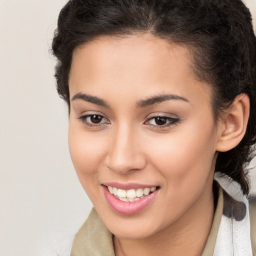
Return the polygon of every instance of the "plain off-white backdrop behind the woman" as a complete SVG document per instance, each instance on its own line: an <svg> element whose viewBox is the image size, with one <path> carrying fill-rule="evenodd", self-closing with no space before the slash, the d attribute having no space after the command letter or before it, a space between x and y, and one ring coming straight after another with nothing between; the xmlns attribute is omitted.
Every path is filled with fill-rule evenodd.
<svg viewBox="0 0 256 256"><path fill-rule="evenodd" d="M0 256L56 255L52 244L92 207L69 157L48 52L65 2L0 0ZM256 16L256 0L246 2Z"/></svg>

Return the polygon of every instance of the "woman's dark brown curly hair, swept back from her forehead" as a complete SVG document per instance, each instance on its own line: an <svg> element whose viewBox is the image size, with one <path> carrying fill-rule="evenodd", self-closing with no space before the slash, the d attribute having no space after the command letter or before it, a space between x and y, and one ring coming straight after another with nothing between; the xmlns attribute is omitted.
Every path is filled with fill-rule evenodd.
<svg viewBox="0 0 256 256"><path fill-rule="evenodd" d="M69 0L52 41L60 97L70 107L68 77L75 47L100 35L145 32L191 49L196 76L212 86L215 120L235 96L248 95L246 133L236 147L218 153L215 166L248 194L247 167L256 142L256 39L241 0Z"/></svg>

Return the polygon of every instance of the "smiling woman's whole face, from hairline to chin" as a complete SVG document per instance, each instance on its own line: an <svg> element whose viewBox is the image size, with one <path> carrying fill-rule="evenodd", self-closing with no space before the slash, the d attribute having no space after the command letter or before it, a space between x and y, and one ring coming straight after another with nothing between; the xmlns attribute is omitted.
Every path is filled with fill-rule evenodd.
<svg viewBox="0 0 256 256"><path fill-rule="evenodd" d="M190 59L150 34L102 36L73 53L69 150L118 237L187 224L212 201L218 129L210 85L195 78Z"/></svg>

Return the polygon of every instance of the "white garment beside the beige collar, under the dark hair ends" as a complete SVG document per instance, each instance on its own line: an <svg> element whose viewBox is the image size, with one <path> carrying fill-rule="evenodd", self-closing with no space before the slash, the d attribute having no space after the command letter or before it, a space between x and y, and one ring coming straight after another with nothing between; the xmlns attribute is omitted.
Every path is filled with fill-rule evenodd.
<svg viewBox="0 0 256 256"><path fill-rule="evenodd" d="M213 256L252 256L248 200L236 182L231 182L226 176L221 177L219 173L216 173L214 178L230 197L224 196L223 214ZM229 206L241 205L238 206L240 209L234 209L232 206L225 209L227 200L237 201L238 203L231 202Z"/></svg>

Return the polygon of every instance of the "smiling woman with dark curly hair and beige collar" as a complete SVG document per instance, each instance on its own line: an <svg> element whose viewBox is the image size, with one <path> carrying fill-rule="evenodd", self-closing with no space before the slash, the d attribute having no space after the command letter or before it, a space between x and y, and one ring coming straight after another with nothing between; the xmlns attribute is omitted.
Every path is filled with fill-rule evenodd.
<svg viewBox="0 0 256 256"><path fill-rule="evenodd" d="M256 40L243 3L70 0L52 50L94 206L71 255L254 255Z"/></svg>

